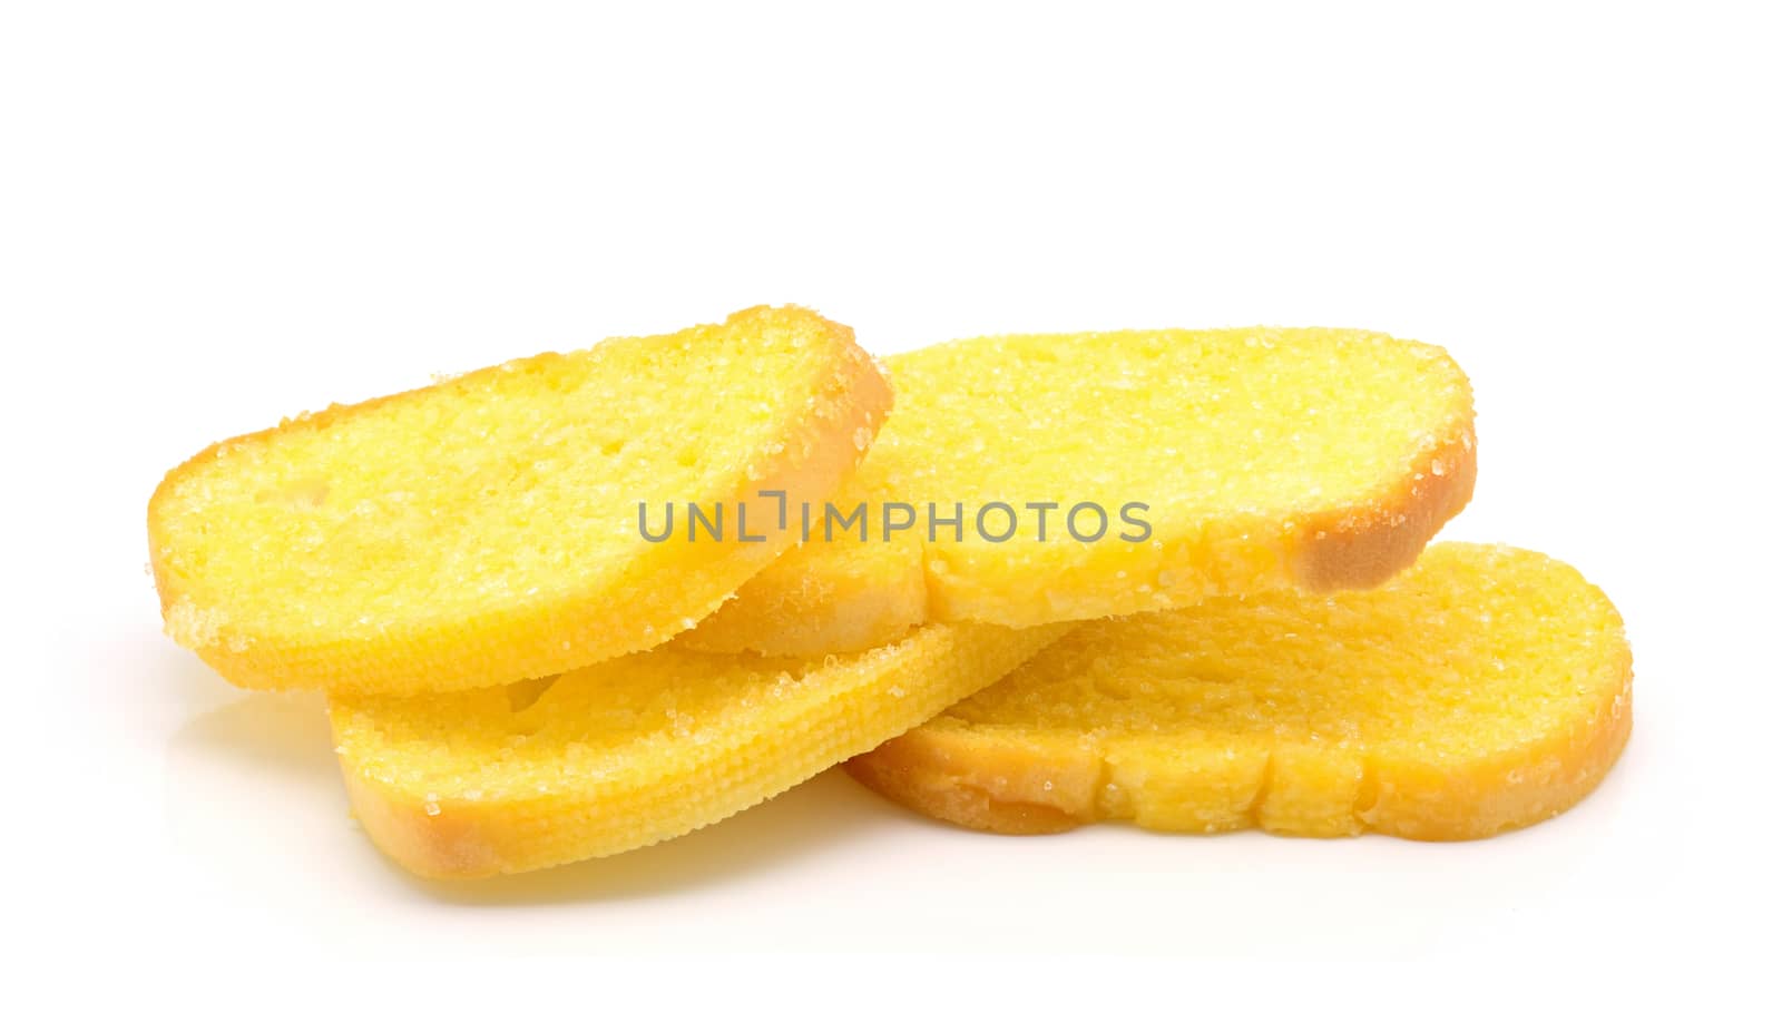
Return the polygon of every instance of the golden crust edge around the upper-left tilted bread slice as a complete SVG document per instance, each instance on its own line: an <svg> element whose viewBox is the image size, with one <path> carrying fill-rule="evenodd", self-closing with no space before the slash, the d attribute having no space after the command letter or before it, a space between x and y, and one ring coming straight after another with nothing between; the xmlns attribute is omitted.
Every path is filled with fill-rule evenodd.
<svg viewBox="0 0 1782 1033"><path fill-rule="evenodd" d="M752 338L793 337L822 349L822 360L813 363L807 383L788 383L782 388L788 422L752 442L747 458L732 468L716 474L715 497L640 500L723 502L734 508L736 502L756 502L761 492L786 492L791 504L832 495L859 465L891 406L889 383L871 356L854 344L852 329L795 306L761 306L731 315L722 328L693 328L663 340L672 344L693 333L716 333L734 342L723 347L743 353L745 342ZM597 346L595 351L609 344L615 342ZM636 536L634 552L617 579L540 597L524 595L517 586L511 597L481 611L339 638L317 638L301 627L255 623L251 616L239 613L237 600L217 597L216 590L184 577L169 559L176 554L176 534L166 515L173 509L175 493L230 452L278 442L292 429L328 431L374 419L387 406L412 403L451 383L476 383L517 367L574 358L544 354L465 374L447 385L331 406L267 431L221 442L176 467L148 506L150 557L168 634L241 687L410 695L495 686L647 650L715 611L740 584L793 545L791 529L777 529L772 522L752 527L752 533L759 531L766 538L761 543L740 541L736 534L723 541L649 543L631 531ZM800 397L804 404L793 404ZM392 458L415 460L419 458Z"/></svg>

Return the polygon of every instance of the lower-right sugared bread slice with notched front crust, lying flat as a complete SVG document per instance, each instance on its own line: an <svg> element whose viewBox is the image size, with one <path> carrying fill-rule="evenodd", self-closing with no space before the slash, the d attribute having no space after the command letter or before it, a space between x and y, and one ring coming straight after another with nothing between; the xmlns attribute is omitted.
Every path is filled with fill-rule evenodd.
<svg viewBox="0 0 1782 1033"><path fill-rule="evenodd" d="M1082 625L848 771L991 832L1475 839L1582 800L1631 693L1600 590L1536 552L1443 543L1370 591Z"/></svg>

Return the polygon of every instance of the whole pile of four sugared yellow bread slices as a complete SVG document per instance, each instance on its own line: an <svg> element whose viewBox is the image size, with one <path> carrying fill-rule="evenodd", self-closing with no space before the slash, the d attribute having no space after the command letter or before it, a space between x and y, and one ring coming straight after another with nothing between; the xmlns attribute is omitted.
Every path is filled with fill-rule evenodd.
<svg viewBox="0 0 1782 1033"><path fill-rule="evenodd" d="M221 442L148 531L168 634L324 691L355 816L422 876L645 848L836 764L994 832L1470 839L1584 798L1632 682L1565 563L1426 550L1474 472L1427 344L879 363L788 306Z"/></svg>

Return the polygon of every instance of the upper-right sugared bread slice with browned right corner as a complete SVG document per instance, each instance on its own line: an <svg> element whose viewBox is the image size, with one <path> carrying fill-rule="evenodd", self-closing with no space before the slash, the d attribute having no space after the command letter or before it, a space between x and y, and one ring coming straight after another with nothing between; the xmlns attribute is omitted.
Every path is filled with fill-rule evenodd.
<svg viewBox="0 0 1782 1033"><path fill-rule="evenodd" d="M887 360L898 411L848 502L909 502L918 527L789 552L684 638L820 654L921 622L1026 627L1210 595L1369 588L1472 497L1467 376L1438 347L1360 329L985 337ZM927 504L955 515L962 540ZM1007 516L977 515L1009 504ZM1080 541L1073 506L1108 516ZM1121 520L1128 502L1149 534ZM1030 508L1030 504L1034 508ZM1039 506L1050 511L1037 541ZM1078 531L1098 529L1083 509Z"/></svg>

